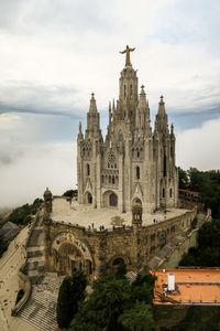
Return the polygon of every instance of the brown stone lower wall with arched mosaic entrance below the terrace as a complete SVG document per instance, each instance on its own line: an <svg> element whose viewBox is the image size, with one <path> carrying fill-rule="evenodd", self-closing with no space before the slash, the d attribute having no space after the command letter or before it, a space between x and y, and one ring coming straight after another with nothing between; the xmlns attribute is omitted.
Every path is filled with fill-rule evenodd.
<svg viewBox="0 0 220 331"><path fill-rule="evenodd" d="M45 271L62 273L65 266L65 270L68 269L70 273L70 263L65 259L63 252L67 252L73 260L73 255L76 254L76 260L87 274L91 269L89 280L110 273L117 267L119 259L124 260L128 270L138 271L160 252L162 246L190 227L195 216L196 210L150 226L133 224L129 228L116 227L102 232L44 220ZM66 250L63 249L65 245ZM76 249L70 249L72 246ZM59 259L63 258L64 263L61 263Z"/></svg>

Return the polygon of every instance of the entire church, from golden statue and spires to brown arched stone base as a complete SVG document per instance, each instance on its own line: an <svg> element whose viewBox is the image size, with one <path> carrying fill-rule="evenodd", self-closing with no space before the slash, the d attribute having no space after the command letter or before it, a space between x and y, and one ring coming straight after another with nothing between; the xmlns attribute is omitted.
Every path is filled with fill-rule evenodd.
<svg viewBox="0 0 220 331"><path fill-rule="evenodd" d="M70 275L80 268L90 282L122 261L136 271L195 218L196 210L177 209L174 127L161 97L152 130L144 86L139 94L130 60L133 51L121 52L125 66L119 99L109 104L106 139L94 94L85 134L79 124L78 199L44 193L45 271Z"/></svg>

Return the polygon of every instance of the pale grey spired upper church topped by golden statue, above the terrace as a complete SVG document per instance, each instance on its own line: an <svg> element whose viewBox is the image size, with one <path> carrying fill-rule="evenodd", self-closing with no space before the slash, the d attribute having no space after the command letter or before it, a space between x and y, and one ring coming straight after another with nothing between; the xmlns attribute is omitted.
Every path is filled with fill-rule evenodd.
<svg viewBox="0 0 220 331"><path fill-rule="evenodd" d="M175 135L163 96L152 131L148 100L127 53L119 79L119 99L109 103L109 125L102 138L94 93L87 113L85 137L79 124L77 181L80 204L112 207L121 212L140 203L143 212L176 207L178 172L175 163ZM128 55L129 54L129 55ZM129 58L128 58L129 56Z"/></svg>

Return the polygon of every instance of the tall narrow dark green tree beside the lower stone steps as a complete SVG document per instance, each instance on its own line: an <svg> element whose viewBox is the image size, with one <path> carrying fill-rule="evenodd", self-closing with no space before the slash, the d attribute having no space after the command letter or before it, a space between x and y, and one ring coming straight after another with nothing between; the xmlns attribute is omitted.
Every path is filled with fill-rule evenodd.
<svg viewBox="0 0 220 331"><path fill-rule="evenodd" d="M87 280L81 270L66 276L59 288L57 300L57 322L59 328L67 328L78 311L78 305L85 299Z"/></svg>

